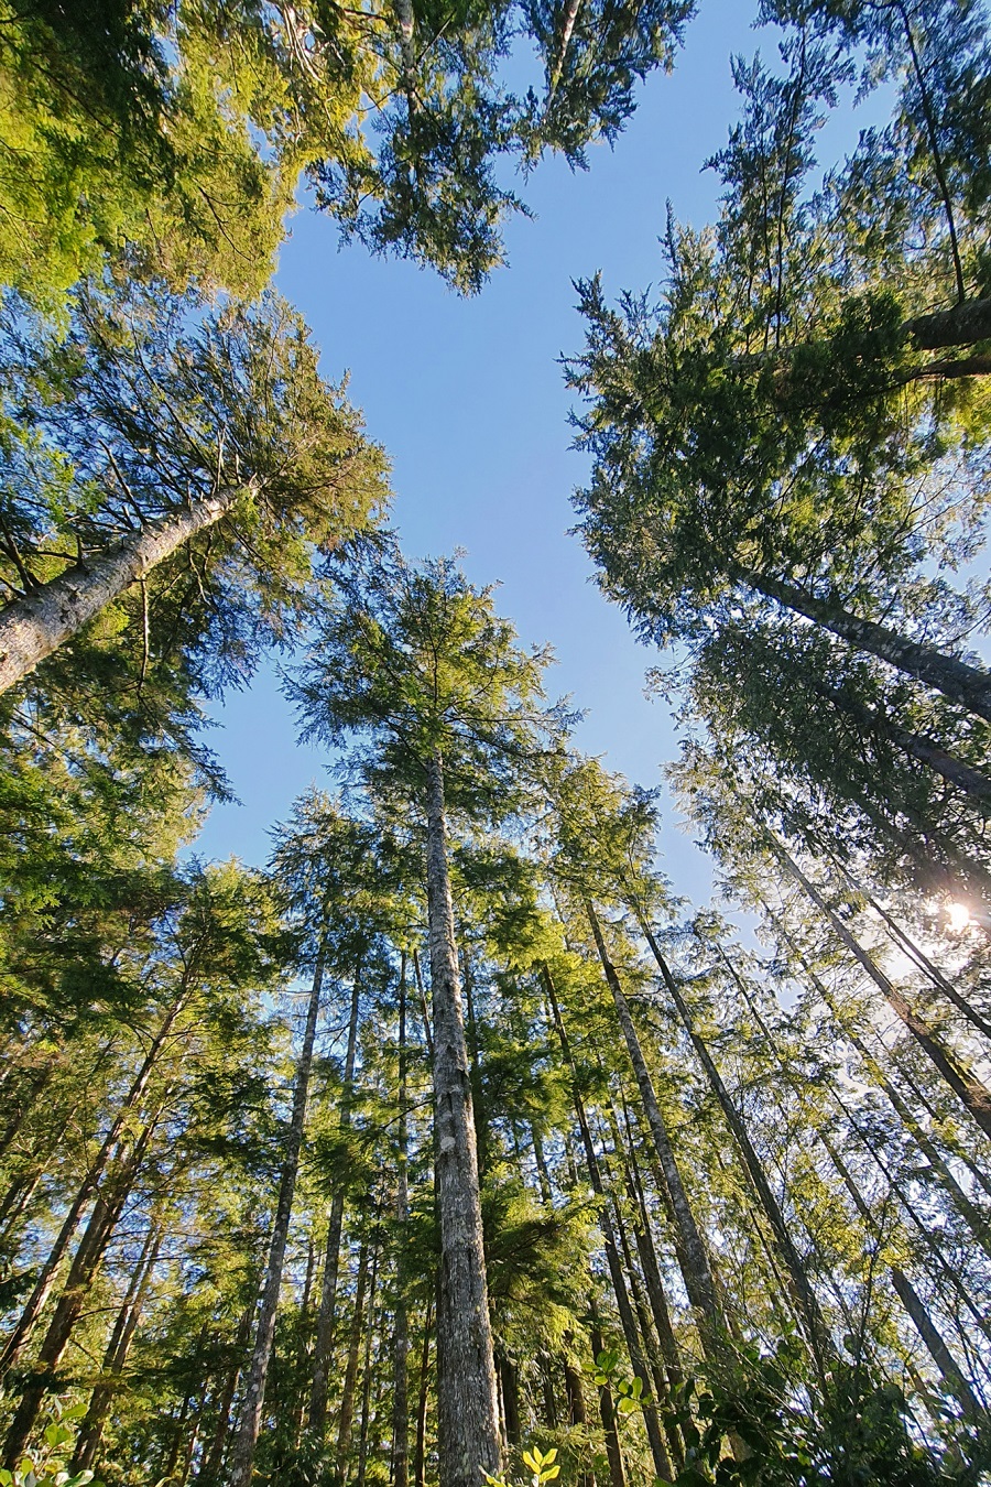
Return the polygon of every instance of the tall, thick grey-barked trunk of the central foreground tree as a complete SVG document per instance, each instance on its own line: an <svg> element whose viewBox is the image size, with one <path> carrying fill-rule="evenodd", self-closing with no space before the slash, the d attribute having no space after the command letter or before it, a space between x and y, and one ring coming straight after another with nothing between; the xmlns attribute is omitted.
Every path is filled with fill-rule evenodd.
<svg viewBox="0 0 991 1487"><path fill-rule="evenodd" d="M440 1216L437 1413L444 1487L499 1475L496 1395L471 1078L447 868L440 751L426 767L426 901L434 999L434 1160Z"/></svg>

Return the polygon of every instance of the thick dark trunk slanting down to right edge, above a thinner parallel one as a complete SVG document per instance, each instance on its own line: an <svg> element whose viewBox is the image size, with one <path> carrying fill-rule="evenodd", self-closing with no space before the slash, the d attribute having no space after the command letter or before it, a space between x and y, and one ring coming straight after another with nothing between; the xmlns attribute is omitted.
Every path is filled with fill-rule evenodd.
<svg viewBox="0 0 991 1487"><path fill-rule="evenodd" d="M737 577L747 587L848 641L856 650L877 656L896 671L940 691L967 712L991 721L991 674L979 666L969 666L955 656L946 656L921 641L908 639L897 630L878 625L877 620L862 620L836 601L819 599L783 578L773 578L752 568L740 568Z"/></svg>

